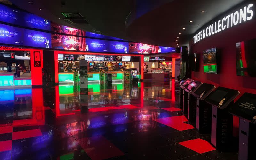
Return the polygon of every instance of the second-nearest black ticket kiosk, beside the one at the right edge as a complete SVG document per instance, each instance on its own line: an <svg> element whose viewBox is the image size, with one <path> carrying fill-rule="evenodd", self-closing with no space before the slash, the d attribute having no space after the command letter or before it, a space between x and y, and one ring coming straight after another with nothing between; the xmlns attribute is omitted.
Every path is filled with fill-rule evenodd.
<svg viewBox="0 0 256 160"><path fill-rule="evenodd" d="M234 104L239 91L218 87L205 101L212 105L211 143L220 150L228 150L233 143L233 115L228 108Z"/></svg>

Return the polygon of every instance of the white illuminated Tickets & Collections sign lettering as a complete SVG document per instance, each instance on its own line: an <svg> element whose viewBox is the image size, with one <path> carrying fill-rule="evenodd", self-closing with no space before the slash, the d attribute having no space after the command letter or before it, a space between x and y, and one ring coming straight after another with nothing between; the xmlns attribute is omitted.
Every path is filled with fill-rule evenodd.
<svg viewBox="0 0 256 160"><path fill-rule="evenodd" d="M213 34L221 32L225 29L252 20L252 17L254 15L254 7L255 5L252 3L245 5L244 7L235 10L235 12L232 12L227 16L224 16L223 18L219 19L218 21L213 22L193 37L194 44L206 37L212 36Z"/></svg>

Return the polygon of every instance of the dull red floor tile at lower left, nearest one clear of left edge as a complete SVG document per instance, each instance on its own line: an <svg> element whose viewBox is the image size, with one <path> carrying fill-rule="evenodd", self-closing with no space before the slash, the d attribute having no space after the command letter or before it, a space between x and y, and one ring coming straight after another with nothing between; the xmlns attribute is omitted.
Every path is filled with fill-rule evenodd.
<svg viewBox="0 0 256 160"><path fill-rule="evenodd" d="M42 132L40 129L26 130L26 131L18 131L12 133L12 140L30 138L42 136Z"/></svg>

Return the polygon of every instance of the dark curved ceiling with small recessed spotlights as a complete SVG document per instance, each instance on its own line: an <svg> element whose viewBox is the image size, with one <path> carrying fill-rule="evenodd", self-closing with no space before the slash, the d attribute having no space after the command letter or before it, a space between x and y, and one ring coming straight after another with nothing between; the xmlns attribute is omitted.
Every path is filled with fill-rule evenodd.
<svg viewBox="0 0 256 160"><path fill-rule="evenodd" d="M10 1L58 24L129 41L177 47L176 42L179 46L188 45L196 30L243 0ZM203 10L206 12L201 13ZM79 12L89 24L71 25L63 20L61 12Z"/></svg>

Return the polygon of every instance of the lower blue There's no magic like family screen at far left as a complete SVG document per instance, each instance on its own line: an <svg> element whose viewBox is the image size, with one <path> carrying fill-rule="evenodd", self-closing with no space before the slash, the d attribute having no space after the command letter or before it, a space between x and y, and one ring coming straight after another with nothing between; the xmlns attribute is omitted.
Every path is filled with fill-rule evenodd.
<svg viewBox="0 0 256 160"><path fill-rule="evenodd" d="M0 43L51 48L51 33L0 24Z"/></svg>

